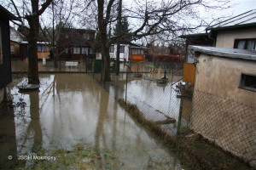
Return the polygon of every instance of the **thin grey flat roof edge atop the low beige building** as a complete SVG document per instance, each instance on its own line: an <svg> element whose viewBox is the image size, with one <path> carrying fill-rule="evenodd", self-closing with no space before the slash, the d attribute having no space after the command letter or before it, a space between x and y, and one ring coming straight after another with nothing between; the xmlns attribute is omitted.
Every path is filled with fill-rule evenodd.
<svg viewBox="0 0 256 170"><path fill-rule="evenodd" d="M256 61L256 51L247 49L189 46L189 50L199 52L201 54L210 54L225 58L247 59Z"/></svg>

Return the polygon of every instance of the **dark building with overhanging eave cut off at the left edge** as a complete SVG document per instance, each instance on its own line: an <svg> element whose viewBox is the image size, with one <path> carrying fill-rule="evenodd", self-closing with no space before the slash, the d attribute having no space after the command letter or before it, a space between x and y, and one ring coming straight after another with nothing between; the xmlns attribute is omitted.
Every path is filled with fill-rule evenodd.
<svg viewBox="0 0 256 170"><path fill-rule="evenodd" d="M9 20L18 20L0 5L0 102L6 97L6 87L12 81Z"/></svg>

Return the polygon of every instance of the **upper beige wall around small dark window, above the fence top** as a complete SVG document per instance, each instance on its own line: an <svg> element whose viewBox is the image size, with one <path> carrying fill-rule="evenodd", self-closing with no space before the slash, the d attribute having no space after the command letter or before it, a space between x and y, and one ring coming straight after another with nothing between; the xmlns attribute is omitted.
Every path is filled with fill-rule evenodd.
<svg viewBox="0 0 256 170"><path fill-rule="evenodd" d="M201 54L195 89L255 107L256 93L238 88L241 73L256 75L256 62Z"/></svg>

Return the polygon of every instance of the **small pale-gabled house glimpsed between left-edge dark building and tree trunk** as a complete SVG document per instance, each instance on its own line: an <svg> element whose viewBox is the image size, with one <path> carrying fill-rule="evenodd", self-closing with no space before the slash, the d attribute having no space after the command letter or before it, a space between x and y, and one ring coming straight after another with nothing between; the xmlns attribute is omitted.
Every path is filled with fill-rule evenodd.
<svg viewBox="0 0 256 170"><path fill-rule="evenodd" d="M11 58L20 58L20 42L23 41L24 36L14 27L10 26L9 28Z"/></svg>

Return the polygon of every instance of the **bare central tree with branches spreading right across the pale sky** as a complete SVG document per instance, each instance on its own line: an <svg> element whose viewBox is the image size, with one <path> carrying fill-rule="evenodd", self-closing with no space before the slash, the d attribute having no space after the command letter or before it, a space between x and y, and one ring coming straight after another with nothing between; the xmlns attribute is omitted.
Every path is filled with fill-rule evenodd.
<svg viewBox="0 0 256 170"><path fill-rule="evenodd" d="M226 0L212 0L211 2L202 0L133 1L122 10L122 17L128 18L133 23L131 26L133 30L130 33L133 40L164 32L177 35L177 32L196 29L205 24L199 17L197 8L224 8L226 3L228 3ZM108 37L108 26L119 19L117 13L112 13L113 8L116 9L116 7L115 0L97 0L97 23L102 40L102 57L105 68L103 80L107 82L111 81L109 46L127 36L123 34ZM196 24L191 23L190 20L196 20Z"/></svg>

